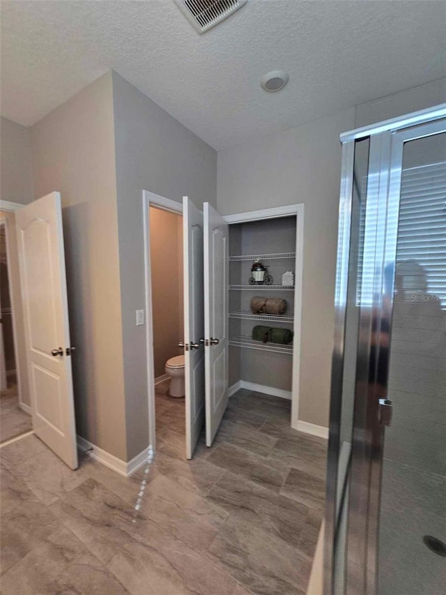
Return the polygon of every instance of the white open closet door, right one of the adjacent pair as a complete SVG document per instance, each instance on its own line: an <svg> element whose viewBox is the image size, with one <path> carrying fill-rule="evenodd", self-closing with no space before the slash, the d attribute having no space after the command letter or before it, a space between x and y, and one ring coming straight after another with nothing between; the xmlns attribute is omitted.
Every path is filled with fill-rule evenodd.
<svg viewBox="0 0 446 595"><path fill-rule="evenodd" d="M206 445L212 446L228 406L229 225L208 202L203 214Z"/></svg>

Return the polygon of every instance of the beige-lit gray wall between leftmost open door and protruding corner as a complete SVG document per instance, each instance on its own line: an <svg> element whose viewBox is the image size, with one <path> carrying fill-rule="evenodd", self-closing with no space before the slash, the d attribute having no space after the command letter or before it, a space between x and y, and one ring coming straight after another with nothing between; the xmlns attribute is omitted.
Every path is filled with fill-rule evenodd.
<svg viewBox="0 0 446 595"><path fill-rule="evenodd" d="M127 460L112 73L31 130L34 193L61 192L77 432Z"/></svg>

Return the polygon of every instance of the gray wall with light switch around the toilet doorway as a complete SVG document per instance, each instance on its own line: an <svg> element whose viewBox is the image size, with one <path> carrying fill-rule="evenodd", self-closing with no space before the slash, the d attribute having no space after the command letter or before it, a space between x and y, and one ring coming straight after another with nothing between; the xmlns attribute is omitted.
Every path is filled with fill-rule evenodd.
<svg viewBox="0 0 446 595"><path fill-rule="evenodd" d="M217 153L113 73L119 258L128 457L148 444L146 342L134 311L144 308L142 190L201 207L216 204Z"/></svg>

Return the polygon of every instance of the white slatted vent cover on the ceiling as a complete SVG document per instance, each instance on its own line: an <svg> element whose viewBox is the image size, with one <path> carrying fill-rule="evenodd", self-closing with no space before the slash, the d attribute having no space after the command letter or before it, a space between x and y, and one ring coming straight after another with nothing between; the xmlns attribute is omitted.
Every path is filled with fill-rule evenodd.
<svg viewBox="0 0 446 595"><path fill-rule="evenodd" d="M205 33L235 13L248 0L174 0L199 33Z"/></svg>

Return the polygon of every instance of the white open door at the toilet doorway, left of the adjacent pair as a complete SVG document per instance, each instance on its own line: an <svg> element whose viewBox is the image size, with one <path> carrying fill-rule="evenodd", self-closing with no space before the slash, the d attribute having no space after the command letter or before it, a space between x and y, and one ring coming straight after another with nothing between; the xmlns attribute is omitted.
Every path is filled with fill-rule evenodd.
<svg viewBox="0 0 446 595"><path fill-rule="evenodd" d="M183 197L186 456L204 422L203 213Z"/></svg>

